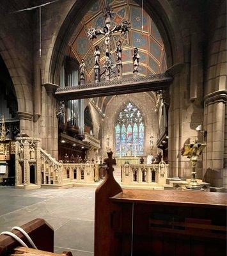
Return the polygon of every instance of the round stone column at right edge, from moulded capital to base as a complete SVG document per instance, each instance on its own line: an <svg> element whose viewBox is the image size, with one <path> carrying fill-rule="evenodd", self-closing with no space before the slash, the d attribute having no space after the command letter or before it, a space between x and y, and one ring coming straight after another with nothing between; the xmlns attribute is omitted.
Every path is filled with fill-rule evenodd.
<svg viewBox="0 0 227 256"><path fill-rule="evenodd" d="M207 131L207 148L203 153L203 176L211 186L223 187L224 141L227 90L212 92L204 98L204 129ZM224 181L225 183L225 181Z"/></svg>

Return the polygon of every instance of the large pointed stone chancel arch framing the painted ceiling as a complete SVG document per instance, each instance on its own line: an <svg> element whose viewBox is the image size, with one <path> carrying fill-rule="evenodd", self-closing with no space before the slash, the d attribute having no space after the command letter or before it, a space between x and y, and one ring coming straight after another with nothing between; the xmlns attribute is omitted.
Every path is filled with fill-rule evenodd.
<svg viewBox="0 0 227 256"><path fill-rule="evenodd" d="M136 0L137 1L137 0ZM84 16L87 10L89 10L92 3L95 0L88 0L88 3L84 5L84 1L77 0L72 6L70 12L68 12L61 28L54 37L54 47L51 54L51 58L47 59L47 70L45 71L44 81L58 84L58 74L61 68L60 63L63 60L63 52L67 47L67 42L72 36L75 27L79 24L80 20ZM141 1L137 1L141 5ZM154 20L160 35L164 42L166 49L166 61L168 68L176 63L184 62L184 48L182 45L182 36L180 34L179 22L174 15L173 8L167 0L147 0L144 6L146 12ZM73 24L73 26L72 26Z"/></svg>

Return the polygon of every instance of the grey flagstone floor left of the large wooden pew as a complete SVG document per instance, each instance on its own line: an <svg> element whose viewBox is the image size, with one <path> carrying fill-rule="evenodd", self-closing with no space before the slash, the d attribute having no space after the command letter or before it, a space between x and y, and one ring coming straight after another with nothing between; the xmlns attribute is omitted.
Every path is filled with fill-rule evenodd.
<svg viewBox="0 0 227 256"><path fill-rule="evenodd" d="M0 232L35 218L54 228L54 251L93 255L95 188L23 190L0 186Z"/></svg>

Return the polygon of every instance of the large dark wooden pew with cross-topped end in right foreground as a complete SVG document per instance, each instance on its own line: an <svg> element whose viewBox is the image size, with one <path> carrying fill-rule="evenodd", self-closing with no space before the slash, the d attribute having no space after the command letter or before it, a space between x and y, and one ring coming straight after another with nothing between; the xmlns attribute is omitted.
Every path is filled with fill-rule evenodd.
<svg viewBox="0 0 227 256"><path fill-rule="evenodd" d="M122 191L111 157L95 193L95 256L226 255L226 193Z"/></svg>

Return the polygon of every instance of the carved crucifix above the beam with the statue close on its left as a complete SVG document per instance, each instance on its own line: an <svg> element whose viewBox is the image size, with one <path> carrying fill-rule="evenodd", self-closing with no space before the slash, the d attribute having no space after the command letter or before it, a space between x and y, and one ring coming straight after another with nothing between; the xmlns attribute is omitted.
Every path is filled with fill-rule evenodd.
<svg viewBox="0 0 227 256"><path fill-rule="evenodd" d="M127 33L129 31L129 22L127 20L123 20L120 25L116 25L114 27L111 27L111 18L113 17L113 8L110 6L106 6L104 10L104 17L105 17L105 26L103 29L95 29L95 28L90 28L88 30L88 37L90 39L97 38L97 35L105 35L105 47L106 47L106 60L104 61L104 74L105 80L109 81L111 78L111 70L113 64L111 63L110 59L110 38L111 35L115 32L121 32L121 33ZM99 50L98 45L95 47L95 66L94 66L94 71L95 71L95 82L100 82L100 77L102 74L100 74L100 64L99 64L99 56L98 56L98 61L97 61L97 50ZM119 60L118 60L119 61ZM118 68L121 68L120 65L118 65ZM118 74L121 74L120 71L118 71Z"/></svg>

